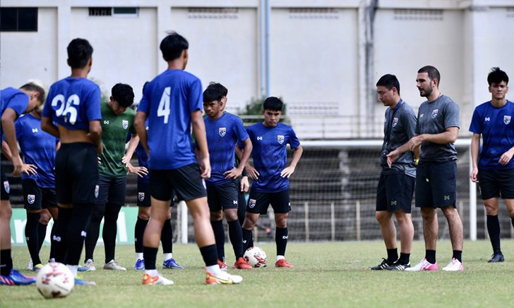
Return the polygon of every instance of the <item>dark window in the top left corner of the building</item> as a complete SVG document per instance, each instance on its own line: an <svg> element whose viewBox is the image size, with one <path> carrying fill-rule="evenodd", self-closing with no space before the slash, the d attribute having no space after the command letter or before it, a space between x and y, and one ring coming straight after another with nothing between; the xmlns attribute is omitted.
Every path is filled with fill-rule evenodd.
<svg viewBox="0 0 514 308"><path fill-rule="evenodd" d="M37 8L0 8L0 31L37 32Z"/></svg>

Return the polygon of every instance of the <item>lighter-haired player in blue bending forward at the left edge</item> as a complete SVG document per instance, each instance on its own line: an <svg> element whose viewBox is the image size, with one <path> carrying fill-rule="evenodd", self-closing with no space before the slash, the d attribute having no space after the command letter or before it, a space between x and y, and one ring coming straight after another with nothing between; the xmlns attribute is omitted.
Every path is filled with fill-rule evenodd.
<svg viewBox="0 0 514 308"><path fill-rule="evenodd" d="M37 106L40 97L44 97L44 90L37 85L27 84L16 90L8 87L0 91L0 135L5 135L8 149L13 162L13 175L25 172L23 161L18 151L16 140L16 119L23 113L32 111ZM0 285L28 285L35 282L35 278L25 277L13 269L11 257L11 202L9 202L9 182L4 168L0 166Z"/></svg>

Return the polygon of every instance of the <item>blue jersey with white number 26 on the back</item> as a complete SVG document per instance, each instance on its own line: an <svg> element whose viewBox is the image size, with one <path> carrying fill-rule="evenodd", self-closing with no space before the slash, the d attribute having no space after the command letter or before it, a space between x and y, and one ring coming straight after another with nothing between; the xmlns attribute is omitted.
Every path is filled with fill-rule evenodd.
<svg viewBox="0 0 514 308"><path fill-rule="evenodd" d="M100 87L86 78L64 78L48 92L43 116L68 130L89 131L89 122L102 119Z"/></svg>

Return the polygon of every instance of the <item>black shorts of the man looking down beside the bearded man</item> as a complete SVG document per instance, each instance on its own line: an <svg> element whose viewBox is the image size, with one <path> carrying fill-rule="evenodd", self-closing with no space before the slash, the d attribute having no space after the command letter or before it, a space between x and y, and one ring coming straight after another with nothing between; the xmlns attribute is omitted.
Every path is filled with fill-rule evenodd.
<svg viewBox="0 0 514 308"><path fill-rule="evenodd" d="M405 174L381 174L376 190L376 211L412 211L416 179Z"/></svg>

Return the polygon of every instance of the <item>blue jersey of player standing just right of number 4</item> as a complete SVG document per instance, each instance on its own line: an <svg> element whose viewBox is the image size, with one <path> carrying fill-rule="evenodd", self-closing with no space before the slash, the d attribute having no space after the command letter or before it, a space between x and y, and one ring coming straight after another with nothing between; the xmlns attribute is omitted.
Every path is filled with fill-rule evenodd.
<svg viewBox="0 0 514 308"><path fill-rule="evenodd" d="M235 164L234 147L236 143L248 139L243 122L237 116L223 113L215 121L208 117L205 120L205 132L210 157L210 178L205 179L206 185L221 185L232 179L225 179L223 173L232 170Z"/></svg>

